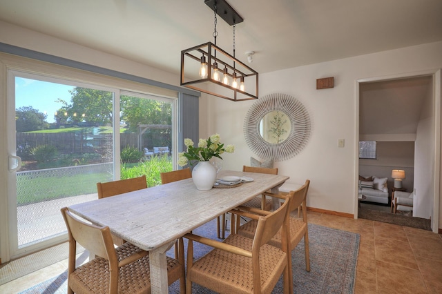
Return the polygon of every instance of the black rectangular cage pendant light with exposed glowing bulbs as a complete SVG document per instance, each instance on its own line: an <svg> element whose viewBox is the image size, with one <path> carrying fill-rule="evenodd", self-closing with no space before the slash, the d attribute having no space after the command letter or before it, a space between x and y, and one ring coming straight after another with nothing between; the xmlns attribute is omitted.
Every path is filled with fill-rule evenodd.
<svg viewBox="0 0 442 294"><path fill-rule="evenodd" d="M181 86L231 101L258 99L258 72L235 57L236 24L243 21L242 17L225 0L204 3L214 12L214 43L181 51ZM233 55L216 45L217 16L233 26Z"/></svg>

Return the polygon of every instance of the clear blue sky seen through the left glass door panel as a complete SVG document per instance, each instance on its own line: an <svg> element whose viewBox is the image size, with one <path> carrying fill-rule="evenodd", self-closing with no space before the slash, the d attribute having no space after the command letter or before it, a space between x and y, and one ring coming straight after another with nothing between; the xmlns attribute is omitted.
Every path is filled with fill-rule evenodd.
<svg viewBox="0 0 442 294"><path fill-rule="evenodd" d="M70 93L73 86L37 81L35 79L15 78L15 109L32 106L39 112L46 113L48 123L55 122L55 112L63 106L57 103L60 98L70 104Z"/></svg>

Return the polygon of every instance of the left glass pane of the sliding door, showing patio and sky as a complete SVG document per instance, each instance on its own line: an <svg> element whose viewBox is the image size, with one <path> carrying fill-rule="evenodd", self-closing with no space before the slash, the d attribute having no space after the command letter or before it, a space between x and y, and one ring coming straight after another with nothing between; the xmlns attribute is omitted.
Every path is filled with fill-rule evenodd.
<svg viewBox="0 0 442 294"><path fill-rule="evenodd" d="M113 180L113 92L62 82L15 79L18 248L66 234L59 209Z"/></svg>

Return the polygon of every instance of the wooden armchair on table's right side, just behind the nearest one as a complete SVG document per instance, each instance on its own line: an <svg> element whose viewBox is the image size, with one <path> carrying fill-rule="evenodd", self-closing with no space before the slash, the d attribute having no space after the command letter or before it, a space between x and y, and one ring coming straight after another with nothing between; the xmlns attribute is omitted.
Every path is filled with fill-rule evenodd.
<svg viewBox="0 0 442 294"><path fill-rule="evenodd" d="M307 192L309 190L310 180L307 179L305 184L302 185L298 190L289 192L289 217L286 219L286 225L288 226L288 234L287 234L287 244L289 244L289 251L294 250L298 243L301 241L302 237L304 237L304 248L305 248L305 269L306 271L310 271L310 255L309 255L309 233L307 228L307 209L302 209L302 219L298 219L295 217L291 217L290 213L297 209L300 204L304 208L307 208ZM287 197L287 195L273 195L273 197L278 197L283 199ZM238 210L244 210L253 213L262 213L262 210L256 210L256 208L249 208L246 206L239 206ZM258 226L258 222L256 219L252 219L250 222L243 224L240 226L238 230L238 234L253 238L256 232L256 228ZM269 244L273 246L281 246L285 242L282 242L282 231L279 231L273 238L270 239ZM289 255L289 271L291 273L291 255ZM292 289L291 289L292 290Z"/></svg>

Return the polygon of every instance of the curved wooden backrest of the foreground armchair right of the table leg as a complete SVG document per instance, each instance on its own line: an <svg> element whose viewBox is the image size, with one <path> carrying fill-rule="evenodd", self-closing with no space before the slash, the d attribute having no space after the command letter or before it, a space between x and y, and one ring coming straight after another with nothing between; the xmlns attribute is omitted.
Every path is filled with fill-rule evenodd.
<svg viewBox="0 0 442 294"><path fill-rule="evenodd" d="M289 215L287 209L289 208L289 196L285 198L285 202L278 208L266 216L260 216L258 219L258 225L256 226L256 233L253 239L252 252L259 253L259 248L262 244L269 242L276 233L282 228L282 235L287 235L287 227L282 226L284 224L285 218ZM287 237L285 238L287 240ZM282 250L286 251L286 245L282 244ZM286 251L287 252L287 251ZM258 256L258 255L257 255Z"/></svg>

